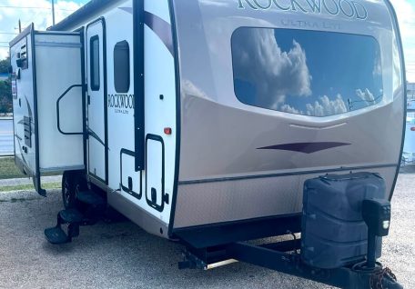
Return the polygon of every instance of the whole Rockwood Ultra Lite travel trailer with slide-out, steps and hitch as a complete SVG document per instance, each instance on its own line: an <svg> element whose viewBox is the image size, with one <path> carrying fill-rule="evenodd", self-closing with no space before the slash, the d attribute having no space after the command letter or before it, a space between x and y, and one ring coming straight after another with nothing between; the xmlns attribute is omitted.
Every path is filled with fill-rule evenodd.
<svg viewBox="0 0 415 289"><path fill-rule="evenodd" d="M400 288L376 263L405 131L389 1L93 0L10 55L15 164L42 195L63 173L49 242L112 207L182 268Z"/></svg>

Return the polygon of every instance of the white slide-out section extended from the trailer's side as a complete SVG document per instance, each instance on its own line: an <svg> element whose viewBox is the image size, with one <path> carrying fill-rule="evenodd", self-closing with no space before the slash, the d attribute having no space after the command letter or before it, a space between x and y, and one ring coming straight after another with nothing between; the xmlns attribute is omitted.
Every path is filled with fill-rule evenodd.
<svg viewBox="0 0 415 289"><path fill-rule="evenodd" d="M30 25L10 44L15 163L42 195L42 174L85 168L82 37Z"/></svg>

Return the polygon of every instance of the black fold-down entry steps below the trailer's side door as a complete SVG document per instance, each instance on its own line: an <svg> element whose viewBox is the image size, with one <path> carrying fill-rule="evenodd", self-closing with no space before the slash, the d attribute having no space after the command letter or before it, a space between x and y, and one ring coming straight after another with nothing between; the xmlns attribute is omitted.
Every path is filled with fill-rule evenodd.
<svg viewBox="0 0 415 289"><path fill-rule="evenodd" d="M55 227L45 230L46 240L51 244L66 244L79 235L81 225L93 225L105 213L106 201L99 194L92 191L78 192L77 208L62 210L57 214ZM66 232L63 229L66 225Z"/></svg>

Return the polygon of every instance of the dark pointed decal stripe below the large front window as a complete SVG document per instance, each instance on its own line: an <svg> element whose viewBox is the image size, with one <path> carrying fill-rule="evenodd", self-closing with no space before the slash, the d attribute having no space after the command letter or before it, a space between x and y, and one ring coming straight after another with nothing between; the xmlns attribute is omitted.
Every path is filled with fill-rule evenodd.
<svg viewBox="0 0 415 289"><path fill-rule="evenodd" d="M324 151L329 148L351 145L347 143L336 143L336 142L319 142L319 143L293 143L283 145L270 145L265 147L259 147L258 150L282 150L299 152L304 154L312 154L319 151Z"/></svg>

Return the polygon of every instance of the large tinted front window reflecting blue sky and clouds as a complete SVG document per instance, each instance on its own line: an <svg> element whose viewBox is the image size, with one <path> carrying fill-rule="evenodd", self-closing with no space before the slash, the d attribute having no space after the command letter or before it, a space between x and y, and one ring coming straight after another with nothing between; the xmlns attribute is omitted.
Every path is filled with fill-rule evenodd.
<svg viewBox="0 0 415 289"><path fill-rule="evenodd" d="M380 47L370 36L238 28L232 35L239 101L297 115L339 115L380 102Z"/></svg>

